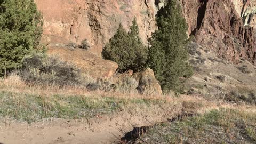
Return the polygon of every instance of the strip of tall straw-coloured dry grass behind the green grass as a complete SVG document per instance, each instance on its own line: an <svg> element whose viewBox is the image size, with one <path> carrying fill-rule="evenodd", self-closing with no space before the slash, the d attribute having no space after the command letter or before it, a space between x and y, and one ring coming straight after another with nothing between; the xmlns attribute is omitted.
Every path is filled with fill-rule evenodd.
<svg viewBox="0 0 256 144"><path fill-rule="evenodd" d="M0 91L6 91L11 93L27 93L32 95L42 95L44 97L51 97L51 95L83 95L84 97L114 97L124 99L149 99L149 100L162 100L172 101L175 98L174 95L159 95L155 93L140 94L137 91L126 91L125 86L118 87L117 90L105 91L102 89L88 90L81 85L41 85L41 84L29 84L22 81L18 73L12 73L5 78L0 79Z"/></svg>

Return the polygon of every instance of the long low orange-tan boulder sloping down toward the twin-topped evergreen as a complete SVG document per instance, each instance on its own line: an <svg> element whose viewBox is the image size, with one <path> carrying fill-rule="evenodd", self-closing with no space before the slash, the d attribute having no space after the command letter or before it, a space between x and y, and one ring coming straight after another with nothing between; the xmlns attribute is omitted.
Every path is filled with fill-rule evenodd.
<svg viewBox="0 0 256 144"><path fill-rule="evenodd" d="M49 55L57 55L61 60L72 63L81 69L82 73L95 78L111 77L118 68L117 63L104 60L84 49L74 49L67 46L48 46L47 48Z"/></svg>

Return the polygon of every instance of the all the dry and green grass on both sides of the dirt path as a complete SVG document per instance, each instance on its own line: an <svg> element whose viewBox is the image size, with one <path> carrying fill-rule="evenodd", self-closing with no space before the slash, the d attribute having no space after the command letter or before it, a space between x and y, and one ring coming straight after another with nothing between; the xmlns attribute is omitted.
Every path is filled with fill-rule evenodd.
<svg viewBox="0 0 256 144"><path fill-rule="evenodd" d="M183 115L201 115L151 127L141 140L155 143L255 142L256 106L245 103L234 105L225 102L223 97L219 99L210 102L187 95L89 91L77 85L29 86L15 73L0 79L2 118L36 122L47 118L97 117L123 108L182 105Z"/></svg>

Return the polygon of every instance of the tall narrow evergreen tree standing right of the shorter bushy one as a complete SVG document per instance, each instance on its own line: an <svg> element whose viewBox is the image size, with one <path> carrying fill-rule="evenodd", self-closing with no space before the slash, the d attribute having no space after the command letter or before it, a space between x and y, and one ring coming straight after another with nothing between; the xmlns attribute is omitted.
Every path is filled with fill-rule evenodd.
<svg viewBox="0 0 256 144"><path fill-rule="evenodd" d="M181 77L193 70L188 64L187 23L176 0L170 0L157 18L158 30L149 39L148 66L154 70L163 90L180 91Z"/></svg>

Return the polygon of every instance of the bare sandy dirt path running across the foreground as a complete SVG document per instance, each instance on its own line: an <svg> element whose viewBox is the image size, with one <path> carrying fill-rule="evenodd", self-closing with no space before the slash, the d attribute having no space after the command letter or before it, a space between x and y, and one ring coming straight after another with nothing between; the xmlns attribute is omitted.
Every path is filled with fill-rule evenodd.
<svg viewBox="0 0 256 144"><path fill-rule="evenodd" d="M116 114L93 119L54 119L32 124L0 123L0 142L16 143L120 143L133 127L150 126L182 114L184 103L123 109ZM196 109L194 109L196 111Z"/></svg>

